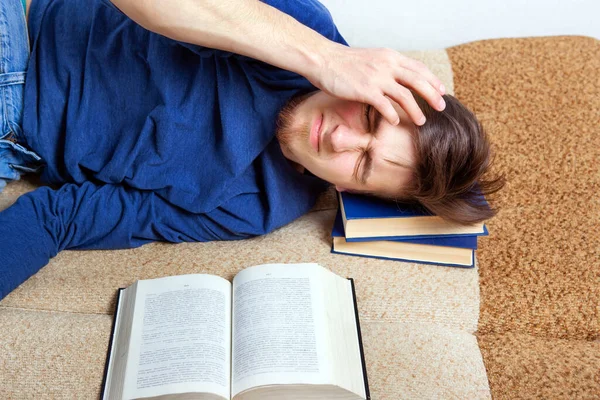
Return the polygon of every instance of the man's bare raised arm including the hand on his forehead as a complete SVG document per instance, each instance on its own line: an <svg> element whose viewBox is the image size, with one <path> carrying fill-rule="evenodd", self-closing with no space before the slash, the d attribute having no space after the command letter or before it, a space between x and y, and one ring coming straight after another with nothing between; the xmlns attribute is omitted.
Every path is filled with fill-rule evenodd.
<svg viewBox="0 0 600 400"><path fill-rule="evenodd" d="M295 72L332 96L373 105L391 124L400 119L388 97L415 124L425 123L409 89L436 110L446 107L442 82L423 63L391 49L333 42L258 0L111 1L148 30Z"/></svg>

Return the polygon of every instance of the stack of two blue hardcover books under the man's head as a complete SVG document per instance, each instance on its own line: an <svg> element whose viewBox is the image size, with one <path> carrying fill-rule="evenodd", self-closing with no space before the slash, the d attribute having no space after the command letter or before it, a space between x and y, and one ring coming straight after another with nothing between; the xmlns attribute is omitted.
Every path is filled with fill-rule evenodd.
<svg viewBox="0 0 600 400"><path fill-rule="evenodd" d="M458 225L414 205L339 193L333 253L470 268L485 224Z"/></svg>

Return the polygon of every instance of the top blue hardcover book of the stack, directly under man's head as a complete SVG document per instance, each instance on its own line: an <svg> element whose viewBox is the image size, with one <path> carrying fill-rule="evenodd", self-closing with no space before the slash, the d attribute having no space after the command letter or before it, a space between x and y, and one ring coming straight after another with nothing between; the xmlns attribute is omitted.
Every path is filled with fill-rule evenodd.
<svg viewBox="0 0 600 400"><path fill-rule="evenodd" d="M339 193L339 201L348 241L487 234L483 222L466 226L451 223L418 205L348 192Z"/></svg>

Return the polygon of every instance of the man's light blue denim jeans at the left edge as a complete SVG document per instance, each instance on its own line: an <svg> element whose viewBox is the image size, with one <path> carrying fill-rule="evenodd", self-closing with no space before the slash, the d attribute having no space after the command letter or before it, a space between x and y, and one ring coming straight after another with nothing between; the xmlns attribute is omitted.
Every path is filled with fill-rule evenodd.
<svg viewBox="0 0 600 400"><path fill-rule="evenodd" d="M0 1L0 192L12 180L37 172L43 161L27 148L21 128L29 37L19 0Z"/></svg>

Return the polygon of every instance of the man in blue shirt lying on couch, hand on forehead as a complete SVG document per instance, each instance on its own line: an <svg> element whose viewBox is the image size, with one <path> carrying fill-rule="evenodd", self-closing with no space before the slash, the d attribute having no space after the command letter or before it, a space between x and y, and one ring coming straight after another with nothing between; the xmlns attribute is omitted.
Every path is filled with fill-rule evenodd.
<svg viewBox="0 0 600 400"><path fill-rule="evenodd" d="M18 2L8 2L2 34L14 37ZM423 196L432 147L416 131L422 109L444 109L441 82L391 50L349 48L316 0L33 0L28 12L22 120L4 121L0 138L16 142L5 147L13 172L40 169L56 189L0 213L0 298L64 249L270 232L307 212L326 182L440 202ZM468 194L485 165L462 173L464 161L452 168Z"/></svg>

